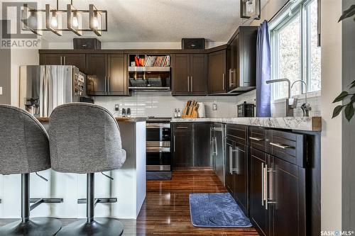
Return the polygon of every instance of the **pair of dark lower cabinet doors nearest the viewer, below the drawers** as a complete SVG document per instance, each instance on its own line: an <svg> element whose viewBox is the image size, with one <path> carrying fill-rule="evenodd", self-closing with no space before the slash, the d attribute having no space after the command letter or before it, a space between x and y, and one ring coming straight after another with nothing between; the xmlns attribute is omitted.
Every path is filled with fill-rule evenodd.
<svg viewBox="0 0 355 236"><path fill-rule="evenodd" d="M261 235L308 235L305 169L251 149L250 216Z"/></svg>

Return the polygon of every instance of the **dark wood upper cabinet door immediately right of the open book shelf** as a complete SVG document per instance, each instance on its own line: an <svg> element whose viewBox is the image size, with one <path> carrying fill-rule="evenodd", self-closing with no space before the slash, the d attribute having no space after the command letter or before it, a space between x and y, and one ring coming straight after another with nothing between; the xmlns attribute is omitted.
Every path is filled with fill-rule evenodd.
<svg viewBox="0 0 355 236"><path fill-rule="evenodd" d="M173 95L190 93L190 54L176 54L171 58L173 65Z"/></svg>

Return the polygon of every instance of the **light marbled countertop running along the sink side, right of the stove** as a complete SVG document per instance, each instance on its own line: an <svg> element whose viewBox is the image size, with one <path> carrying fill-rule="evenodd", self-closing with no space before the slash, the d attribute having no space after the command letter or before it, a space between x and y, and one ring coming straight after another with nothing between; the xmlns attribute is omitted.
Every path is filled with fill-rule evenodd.
<svg viewBox="0 0 355 236"><path fill-rule="evenodd" d="M267 128L290 130L322 131L322 118L313 117L247 117L247 118L173 118L172 123L180 122L219 122L239 125L253 125Z"/></svg>

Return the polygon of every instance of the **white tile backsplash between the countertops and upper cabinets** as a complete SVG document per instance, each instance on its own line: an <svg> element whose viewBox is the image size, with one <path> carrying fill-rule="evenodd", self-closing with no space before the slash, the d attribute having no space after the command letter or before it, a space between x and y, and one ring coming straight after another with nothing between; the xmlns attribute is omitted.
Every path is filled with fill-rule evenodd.
<svg viewBox="0 0 355 236"><path fill-rule="evenodd" d="M304 95L298 98L295 116L302 116L300 106L305 102ZM250 91L239 96L171 96L168 91L133 91L132 96L94 97L94 103L104 106L114 116L121 116L122 108L131 108L131 116L174 116L174 109L185 107L188 100L196 100L204 103L206 116L209 118L236 117L236 106L244 103L256 103L256 91ZM307 99L312 107L310 116L320 114L320 92L310 94ZM217 103L217 111L212 111L212 104ZM115 104L119 104L119 112L114 111ZM285 100L280 99L271 102L271 116L285 116Z"/></svg>

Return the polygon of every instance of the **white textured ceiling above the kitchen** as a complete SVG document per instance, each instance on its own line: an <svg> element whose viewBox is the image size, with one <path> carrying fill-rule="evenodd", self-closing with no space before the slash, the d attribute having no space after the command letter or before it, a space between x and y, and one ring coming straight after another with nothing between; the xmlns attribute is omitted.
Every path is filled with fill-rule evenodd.
<svg viewBox="0 0 355 236"><path fill-rule="evenodd" d="M31 1L31 0L29 0ZM33 1L33 0L32 0ZM269 0L262 0L263 7ZM206 38L214 42L226 42L242 23L239 18L239 0L73 0L77 9L108 11L108 32L102 42L179 42L181 38ZM38 1L56 6L55 0ZM59 1L65 9L70 1ZM94 38L91 32L84 37ZM61 37L45 32L48 42L72 42L77 35L64 32Z"/></svg>

